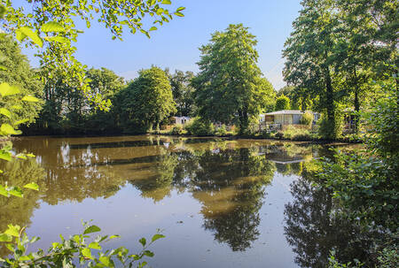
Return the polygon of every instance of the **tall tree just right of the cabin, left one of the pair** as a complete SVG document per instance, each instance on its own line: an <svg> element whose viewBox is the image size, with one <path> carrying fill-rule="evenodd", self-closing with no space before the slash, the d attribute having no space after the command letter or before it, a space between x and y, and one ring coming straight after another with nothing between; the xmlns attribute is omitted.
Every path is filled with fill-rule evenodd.
<svg viewBox="0 0 399 268"><path fill-rule="evenodd" d="M288 84L319 96L318 109L326 111L330 133L335 138L335 92L333 63L335 31L338 20L331 10L331 1L304 0L300 16L293 21L293 33L287 39L284 78Z"/></svg>

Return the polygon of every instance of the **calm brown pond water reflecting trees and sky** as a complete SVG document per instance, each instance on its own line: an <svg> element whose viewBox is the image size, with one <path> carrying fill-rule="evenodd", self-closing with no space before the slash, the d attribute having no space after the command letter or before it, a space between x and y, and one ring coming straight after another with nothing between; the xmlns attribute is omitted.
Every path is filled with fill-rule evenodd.
<svg viewBox="0 0 399 268"><path fill-rule="evenodd" d="M355 227L333 221L328 191L311 186L310 160L328 153L319 145L143 135L26 137L14 148L36 158L3 165L10 184L41 191L0 196L0 231L27 226L42 238L35 247L93 220L121 234L109 247L140 249L160 228L153 267L323 267L332 248L363 254L361 243L346 249Z"/></svg>

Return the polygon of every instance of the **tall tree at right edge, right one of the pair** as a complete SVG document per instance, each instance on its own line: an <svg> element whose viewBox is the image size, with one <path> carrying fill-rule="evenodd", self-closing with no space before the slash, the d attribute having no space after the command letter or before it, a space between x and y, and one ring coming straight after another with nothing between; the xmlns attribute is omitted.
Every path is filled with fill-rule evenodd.
<svg viewBox="0 0 399 268"><path fill-rule="evenodd" d="M339 0L340 20L336 70L344 79L343 93L352 100L356 113L370 95L369 80L387 79L396 73L397 11L394 0ZM355 126L358 130L358 117Z"/></svg>

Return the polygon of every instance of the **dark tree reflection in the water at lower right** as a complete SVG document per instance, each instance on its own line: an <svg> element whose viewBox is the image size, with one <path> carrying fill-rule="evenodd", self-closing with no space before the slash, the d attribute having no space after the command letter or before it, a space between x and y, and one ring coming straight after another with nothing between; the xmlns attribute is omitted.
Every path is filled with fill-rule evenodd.
<svg viewBox="0 0 399 268"><path fill-rule="evenodd" d="M379 234L362 233L359 226L334 214L338 206L331 191L312 186L312 165L306 165L300 179L292 183L293 202L286 204L286 240L297 255L295 262L301 267L327 267L333 249L342 263L357 258L371 264L370 252Z"/></svg>

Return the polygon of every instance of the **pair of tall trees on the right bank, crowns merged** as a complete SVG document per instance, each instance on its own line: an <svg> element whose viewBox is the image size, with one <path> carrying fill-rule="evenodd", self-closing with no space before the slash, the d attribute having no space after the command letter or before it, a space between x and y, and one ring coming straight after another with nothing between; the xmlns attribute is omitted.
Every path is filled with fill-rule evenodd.
<svg viewBox="0 0 399 268"><path fill-rule="evenodd" d="M372 80L397 74L395 0L304 0L286 40L285 94L305 110L326 114L327 137L336 138L338 112L357 113L379 98ZM358 118L356 118L356 127Z"/></svg>

